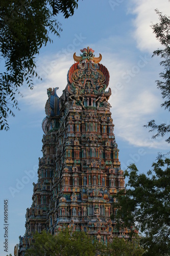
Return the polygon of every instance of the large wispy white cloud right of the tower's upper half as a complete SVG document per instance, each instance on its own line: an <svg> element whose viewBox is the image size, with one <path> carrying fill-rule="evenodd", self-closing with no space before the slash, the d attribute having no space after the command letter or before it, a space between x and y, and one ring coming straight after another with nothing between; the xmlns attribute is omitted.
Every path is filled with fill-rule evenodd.
<svg viewBox="0 0 170 256"><path fill-rule="evenodd" d="M131 78L129 82L121 79L127 68L133 67L132 63L119 61L110 62L107 66L109 71L114 71L110 76L110 87L112 96L109 102L112 105L112 117L115 124L115 136L127 141L129 144L138 147L167 148L164 139L152 140L152 135L143 128L153 118L156 118L160 109L161 97L157 90L153 74L152 65L139 72ZM132 66L131 66L132 65ZM152 84L153 83L153 86Z"/></svg>

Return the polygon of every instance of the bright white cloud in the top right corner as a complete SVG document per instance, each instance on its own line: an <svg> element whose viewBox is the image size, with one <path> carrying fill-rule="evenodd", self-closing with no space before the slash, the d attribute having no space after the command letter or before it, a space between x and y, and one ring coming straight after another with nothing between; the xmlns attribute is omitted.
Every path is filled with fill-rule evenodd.
<svg viewBox="0 0 170 256"><path fill-rule="evenodd" d="M137 47L141 51L153 52L160 47L159 41L150 27L152 22L158 22L158 15L154 10L158 9L163 14L170 15L170 3L167 0L132 0L132 4L130 12L136 15L133 24Z"/></svg>

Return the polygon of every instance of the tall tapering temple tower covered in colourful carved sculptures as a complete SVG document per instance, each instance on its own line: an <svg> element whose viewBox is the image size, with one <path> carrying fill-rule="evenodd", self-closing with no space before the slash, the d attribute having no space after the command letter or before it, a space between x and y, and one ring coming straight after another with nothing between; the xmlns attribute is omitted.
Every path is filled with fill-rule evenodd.
<svg viewBox="0 0 170 256"><path fill-rule="evenodd" d="M46 117L42 121L43 157L33 203L27 209L26 233L19 237L18 255L29 248L32 234L43 229L58 234L69 227L109 243L127 237L110 219L113 195L124 188L108 100L109 72L87 47L67 74L61 97L47 89Z"/></svg>

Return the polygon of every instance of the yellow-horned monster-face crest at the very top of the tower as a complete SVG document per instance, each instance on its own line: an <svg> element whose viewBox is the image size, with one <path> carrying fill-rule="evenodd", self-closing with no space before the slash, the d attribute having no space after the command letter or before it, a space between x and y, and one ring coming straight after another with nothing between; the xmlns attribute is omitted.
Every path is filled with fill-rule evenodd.
<svg viewBox="0 0 170 256"><path fill-rule="evenodd" d="M92 61L93 63L99 63L102 60L102 55L99 54L99 57L95 57L95 55L93 54L94 50L92 50L91 48L87 47L84 48L83 50L80 50L82 52L82 54L80 54L79 56L76 56L76 52L73 55L73 58L76 62L81 62L81 61Z"/></svg>

